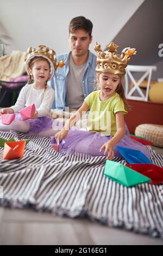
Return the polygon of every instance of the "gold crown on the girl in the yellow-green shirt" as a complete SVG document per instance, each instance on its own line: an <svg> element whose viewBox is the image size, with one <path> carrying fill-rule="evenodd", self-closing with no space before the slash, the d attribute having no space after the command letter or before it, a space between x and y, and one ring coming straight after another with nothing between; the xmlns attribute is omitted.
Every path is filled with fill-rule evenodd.
<svg viewBox="0 0 163 256"><path fill-rule="evenodd" d="M123 76L126 74L126 67L130 60L129 56L136 54L135 48L124 48L121 55L116 54L116 48L119 47L114 44L114 42L110 42L109 45L106 45L108 51L103 52L101 45L96 42L95 51L98 52L97 55L97 72L110 72L111 74Z"/></svg>

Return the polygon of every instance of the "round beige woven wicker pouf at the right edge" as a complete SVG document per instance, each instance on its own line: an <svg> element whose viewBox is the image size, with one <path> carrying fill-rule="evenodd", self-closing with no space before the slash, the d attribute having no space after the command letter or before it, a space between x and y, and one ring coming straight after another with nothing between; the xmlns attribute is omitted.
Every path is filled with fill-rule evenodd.
<svg viewBox="0 0 163 256"><path fill-rule="evenodd" d="M163 148L163 125L140 124L135 130L136 136L141 136L153 145Z"/></svg>

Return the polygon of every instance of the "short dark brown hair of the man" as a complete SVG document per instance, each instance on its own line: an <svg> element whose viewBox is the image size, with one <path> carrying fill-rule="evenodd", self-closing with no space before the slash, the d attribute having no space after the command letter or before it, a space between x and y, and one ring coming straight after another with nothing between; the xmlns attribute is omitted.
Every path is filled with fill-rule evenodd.
<svg viewBox="0 0 163 256"><path fill-rule="evenodd" d="M89 33L91 37L93 24L90 20L86 19L84 16L74 17L70 21L69 25L69 35L77 29L83 29L85 32Z"/></svg>

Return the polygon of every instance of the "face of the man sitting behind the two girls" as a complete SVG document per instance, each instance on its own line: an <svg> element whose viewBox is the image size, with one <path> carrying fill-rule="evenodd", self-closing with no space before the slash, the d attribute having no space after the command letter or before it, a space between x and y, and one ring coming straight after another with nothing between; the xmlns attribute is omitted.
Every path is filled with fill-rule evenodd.
<svg viewBox="0 0 163 256"><path fill-rule="evenodd" d="M82 57L87 54L92 36L90 38L89 33L85 32L83 29L77 29L73 33L70 33L69 41L72 56Z"/></svg>

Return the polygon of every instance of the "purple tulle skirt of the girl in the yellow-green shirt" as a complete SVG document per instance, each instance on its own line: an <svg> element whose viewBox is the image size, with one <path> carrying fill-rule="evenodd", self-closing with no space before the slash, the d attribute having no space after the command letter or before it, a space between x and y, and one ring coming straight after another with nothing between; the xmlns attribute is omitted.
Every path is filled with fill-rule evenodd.
<svg viewBox="0 0 163 256"><path fill-rule="evenodd" d="M84 153L90 156L104 156L104 150L102 152L99 152L99 150L111 138L112 136L103 136L98 132L70 130L64 139L65 144L61 151L68 154ZM123 136L121 141L117 143L117 146L140 150L147 157L152 156L144 145L130 138L128 131L126 131L126 135ZM114 156L122 157L116 148L114 149Z"/></svg>

